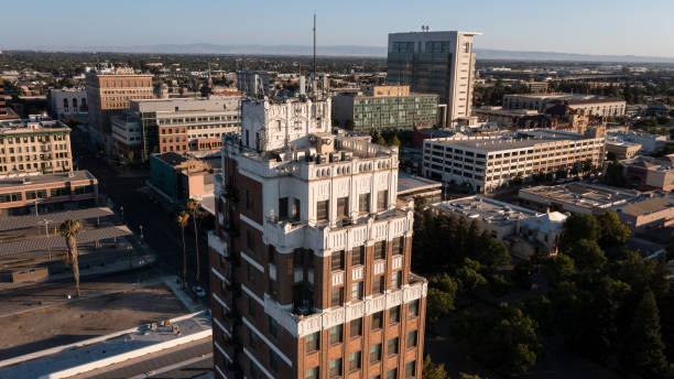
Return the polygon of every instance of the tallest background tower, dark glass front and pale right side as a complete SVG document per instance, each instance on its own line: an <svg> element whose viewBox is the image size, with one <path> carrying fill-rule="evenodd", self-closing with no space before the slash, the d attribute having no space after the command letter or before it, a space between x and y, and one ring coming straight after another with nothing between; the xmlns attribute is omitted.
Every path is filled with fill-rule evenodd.
<svg viewBox="0 0 674 379"><path fill-rule="evenodd" d="M475 53L471 32L411 32L389 34L387 83L410 85L420 94L435 94L446 105L443 124L455 126L470 116Z"/></svg>

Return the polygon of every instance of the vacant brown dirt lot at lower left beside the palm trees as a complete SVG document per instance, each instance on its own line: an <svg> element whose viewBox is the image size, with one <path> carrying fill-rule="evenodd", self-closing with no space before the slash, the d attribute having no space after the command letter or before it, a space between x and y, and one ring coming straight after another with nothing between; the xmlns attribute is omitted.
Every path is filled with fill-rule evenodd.
<svg viewBox="0 0 674 379"><path fill-rule="evenodd" d="M128 329L188 311L164 284L0 317L0 359Z"/></svg>

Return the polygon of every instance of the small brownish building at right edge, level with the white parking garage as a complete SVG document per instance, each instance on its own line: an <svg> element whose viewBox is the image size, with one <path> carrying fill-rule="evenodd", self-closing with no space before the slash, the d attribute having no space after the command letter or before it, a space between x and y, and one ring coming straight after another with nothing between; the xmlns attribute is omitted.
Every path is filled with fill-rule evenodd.
<svg viewBox="0 0 674 379"><path fill-rule="evenodd" d="M674 154L662 158L639 155L620 163L628 181L643 190L674 190Z"/></svg>

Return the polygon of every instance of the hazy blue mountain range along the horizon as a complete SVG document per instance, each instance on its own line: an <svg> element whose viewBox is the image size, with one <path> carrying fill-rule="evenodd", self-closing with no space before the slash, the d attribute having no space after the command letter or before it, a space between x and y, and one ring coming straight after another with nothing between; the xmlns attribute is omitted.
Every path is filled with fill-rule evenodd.
<svg viewBox="0 0 674 379"><path fill-rule="evenodd" d="M155 53L155 54L232 54L232 55L311 55L312 46L303 45L219 45L210 43L157 44L130 46L42 46L32 50L46 52L110 52L110 53ZM674 57L638 55L591 55L553 52L524 52L496 48L476 48L479 59L494 61L576 61L617 63L674 63ZM318 46L322 56L385 57L387 47L334 45Z"/></svg>

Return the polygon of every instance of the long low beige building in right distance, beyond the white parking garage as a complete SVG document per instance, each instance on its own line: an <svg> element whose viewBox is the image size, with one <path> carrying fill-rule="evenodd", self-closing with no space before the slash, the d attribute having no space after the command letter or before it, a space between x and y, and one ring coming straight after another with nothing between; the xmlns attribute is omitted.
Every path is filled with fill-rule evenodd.
<svg viewBox="0 0 674 379"><path fill-rule="evenodd" d="M622 99L583 94L524 94L503 96L504 109L530 109L544 112L550 105L564 101L573 109L583 109L585 113L601 117L624 116L627 102Z"/></svg>

